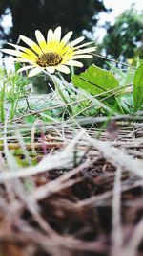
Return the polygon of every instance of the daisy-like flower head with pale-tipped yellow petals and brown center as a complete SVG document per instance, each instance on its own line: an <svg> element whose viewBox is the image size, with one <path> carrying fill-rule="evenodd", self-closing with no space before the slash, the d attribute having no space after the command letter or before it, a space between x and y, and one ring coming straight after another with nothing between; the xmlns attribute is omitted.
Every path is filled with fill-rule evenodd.
<svg viewBox="0 0 143 256"><path fill-rule="evenodd" d="M28 63L27 66L20 68L19 72L31 70L29 77L35 76L43 71L53 74L57 70L68 74L70 73L69 66L83 66L76 59L92 58L90 53L96 49L94 46L85 48L92 42L80 44L84 40L84 36L70 42L72 31L61 39L61 27L57 27L55 31L50 29L47 34L47 40L38 30L35 31L35 37L37 43L24 35L20 35L20 39L29 48L8 43L15 50L2 49L2 52L14 56L15 62Z"/></svg>

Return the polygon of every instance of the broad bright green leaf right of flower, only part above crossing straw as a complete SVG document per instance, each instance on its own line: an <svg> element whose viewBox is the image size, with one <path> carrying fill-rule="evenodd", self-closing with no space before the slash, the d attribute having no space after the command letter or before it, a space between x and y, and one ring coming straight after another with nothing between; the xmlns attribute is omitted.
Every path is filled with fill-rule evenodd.
<svg viewBox="0 0 143 256"><path fill-rule="evenodd" d="M119 86L119 81L110 71L95 65L90 66L80 75L72 76L72 82L76 87L82 88L92 95L106 92Z"/></svg>

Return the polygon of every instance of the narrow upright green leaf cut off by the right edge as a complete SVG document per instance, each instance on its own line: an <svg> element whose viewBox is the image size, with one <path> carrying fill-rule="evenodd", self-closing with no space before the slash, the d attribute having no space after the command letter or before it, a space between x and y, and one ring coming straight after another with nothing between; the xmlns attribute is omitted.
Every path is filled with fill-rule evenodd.
<svg viewBox="0 0 143 256"><path fill-rule="evenodd" d="M133 80L133 104L134 111L143 103L143 64L141 64L135 72Z"/></svg>

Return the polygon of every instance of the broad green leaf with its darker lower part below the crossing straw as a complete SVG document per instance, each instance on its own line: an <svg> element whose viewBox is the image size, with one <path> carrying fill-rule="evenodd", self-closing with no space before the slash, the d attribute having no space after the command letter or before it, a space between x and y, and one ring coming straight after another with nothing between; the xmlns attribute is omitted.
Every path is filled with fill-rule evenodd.
<svg viewBox="0 0 143 256"><path fill-rule="evenodd" d="M92 65L80 75L72 76L72 81L75 86L92 95L97 95L97 99L104 102L111 111L123 111L121 104L114 97L114 92L111 92L112 89L119 87L119 81L116 80L112 72ZM100 104L96 103L96 105Z"/></svg>

